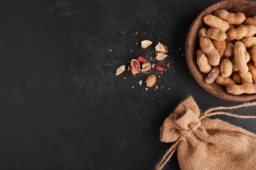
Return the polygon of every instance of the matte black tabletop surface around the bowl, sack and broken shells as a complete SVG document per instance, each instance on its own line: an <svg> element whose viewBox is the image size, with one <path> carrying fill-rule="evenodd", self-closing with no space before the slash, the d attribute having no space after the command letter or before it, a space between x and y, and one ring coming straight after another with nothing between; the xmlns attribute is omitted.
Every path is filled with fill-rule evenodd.
<svg viewBox="0 0 256 170"><path fill-rule="evenodd" d="M159 127L182 99L193 95L201 109L240 104L204 91L185 61L191 22L215 2L0 2L0 169L154 170L171 146ZM145 39L153 45L141 50ZM137 55L153 56L158 41L171 66L157 91L139 86L145 74L115 76ZM255 120L218 117L256 132ZM175 155L167 165L179 169Z"/></svg>

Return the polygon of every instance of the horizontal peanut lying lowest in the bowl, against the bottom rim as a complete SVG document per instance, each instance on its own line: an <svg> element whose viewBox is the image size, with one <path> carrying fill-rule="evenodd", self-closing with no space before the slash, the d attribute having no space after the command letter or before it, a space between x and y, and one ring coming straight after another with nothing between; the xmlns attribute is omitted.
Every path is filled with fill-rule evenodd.
<svg viewBox="0 0 256 170"><path fill-rule="evenodd" d="M242 85L231 84L227 86L227 92L233 95L240 95L243 93L256 93L256 84L243 83Z"/></svg>

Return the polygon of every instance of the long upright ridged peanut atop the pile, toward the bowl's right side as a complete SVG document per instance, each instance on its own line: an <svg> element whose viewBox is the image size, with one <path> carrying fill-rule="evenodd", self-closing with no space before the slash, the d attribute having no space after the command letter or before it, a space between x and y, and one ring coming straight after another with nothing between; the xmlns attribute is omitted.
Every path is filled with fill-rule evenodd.
<svg viewBox="0 0 256 170"><path fill-rule="evenodd" d="M246 73L249 71L249 68L247 66L245 52L246 52L245 44L243 44L243 42L240 42L240 41L236 42L234 46L234 57L235 57L236 65L238 66L240 71Z"/></svg>

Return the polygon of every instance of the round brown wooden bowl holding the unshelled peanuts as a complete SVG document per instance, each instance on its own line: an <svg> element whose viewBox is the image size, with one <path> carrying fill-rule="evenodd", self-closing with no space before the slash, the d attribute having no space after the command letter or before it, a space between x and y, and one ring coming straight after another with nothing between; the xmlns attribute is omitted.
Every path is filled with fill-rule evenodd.
<svg viewBox="0 0 256 170"><path fill-rule="evenodd" d="M197 81L198 84L200 84L200 86L204 88L204 90L220 99L234 102L242 102L256 99L256 94L232 95L231 93L227 92L224 86L221 86L216 82L207 84L206 82L204 82L204 79L207 77L207 75L201 73L198 69L195 57L195 53L199 49L198 30L202 27L209 28L209 26L204 24L203 16L206 14L213 14L213 12L218 9L225 9L228 12L232 13L242 12L245 14L245 17L256 16L256 3L248 0L223 0L221 2L211 5L207 9L204 9L192 22L186 35L185 55L189 70L193 75L195 81Z"/></svg>

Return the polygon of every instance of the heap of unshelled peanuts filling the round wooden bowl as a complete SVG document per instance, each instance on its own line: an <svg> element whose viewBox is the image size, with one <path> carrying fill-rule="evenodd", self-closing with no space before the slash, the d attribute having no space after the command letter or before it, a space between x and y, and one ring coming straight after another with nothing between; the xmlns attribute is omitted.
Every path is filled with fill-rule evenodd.
<svg viewBox="0 0 256 170"><path fill-rule="evenodd" d="M205 82L215 81L234 95L256 93L256 16L222 9L203 20L211 28L198 31L196 57L199 70L208 74Z"/></svg>

